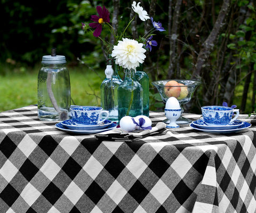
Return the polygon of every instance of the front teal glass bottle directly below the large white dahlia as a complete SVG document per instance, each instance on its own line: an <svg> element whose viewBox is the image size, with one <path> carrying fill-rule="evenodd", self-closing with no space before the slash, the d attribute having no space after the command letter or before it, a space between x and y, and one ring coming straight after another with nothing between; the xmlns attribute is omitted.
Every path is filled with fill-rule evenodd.
<svg viewBox="0 0 256 213"><path fill-rule="evenodd" d="M135 71L124 69L125 77L118 87L118 120L124 116L142 114L142 87L135 79Z"/></svg>

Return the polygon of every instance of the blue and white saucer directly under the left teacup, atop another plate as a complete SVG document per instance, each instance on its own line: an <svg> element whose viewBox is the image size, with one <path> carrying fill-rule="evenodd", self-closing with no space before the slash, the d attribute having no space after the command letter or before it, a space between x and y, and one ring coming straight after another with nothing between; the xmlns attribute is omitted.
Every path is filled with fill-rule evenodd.
<svg viewBox="0 0 256 213"><path fill-rule="evenodd" d="M98 130L98 129L106 128L112 123L113 121L111 120L105 120L99 125L84 125L84 124L78 124L73 119L61 121L61 124L63 126L72 130Z"/></svg>

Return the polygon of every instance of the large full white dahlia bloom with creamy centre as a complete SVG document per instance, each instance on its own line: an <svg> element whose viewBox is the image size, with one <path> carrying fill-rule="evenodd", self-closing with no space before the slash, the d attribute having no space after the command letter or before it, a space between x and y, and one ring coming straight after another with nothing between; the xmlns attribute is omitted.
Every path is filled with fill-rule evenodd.
<svg viewBox="0 0 256 213"><path fill-rule="evenodd" d="M144 62L145 52L142 43L134 39L123 38L113 47L111 56L116 59L116 64L130 70L139 67L139 64Z"/></svg>

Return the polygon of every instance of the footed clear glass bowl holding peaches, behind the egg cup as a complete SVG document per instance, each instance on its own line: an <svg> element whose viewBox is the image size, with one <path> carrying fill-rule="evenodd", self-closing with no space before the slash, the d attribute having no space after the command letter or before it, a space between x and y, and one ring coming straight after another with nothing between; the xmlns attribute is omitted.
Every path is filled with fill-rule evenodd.
<svg viewBox="0 0 256 213"><path fill-rule="evenodd" d="M151 84L157 88L164 103L166 103L169 97L176 97L180 103L182 113L184 111L182 104L186 104L191 100L196 87L201 84L201 81L170 79L153 81ZM165 122L167 121L165 120ZM190 122L191 120L182 116L176 121L177 124L189 124Z"/></svg>

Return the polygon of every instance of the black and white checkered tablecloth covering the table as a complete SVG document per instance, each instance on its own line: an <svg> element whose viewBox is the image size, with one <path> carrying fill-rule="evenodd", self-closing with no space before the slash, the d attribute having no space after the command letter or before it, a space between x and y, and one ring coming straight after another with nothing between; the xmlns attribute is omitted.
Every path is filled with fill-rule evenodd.
<svg viewBox="0 0 256 213"><path fill-rule="evenodd" d="M34 105L0 113L1 213L256 212L254 126L216 135L182 125L126 143L54 124Z"/></svg>

